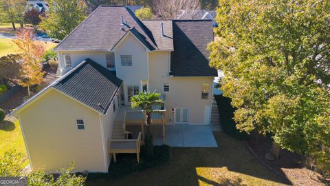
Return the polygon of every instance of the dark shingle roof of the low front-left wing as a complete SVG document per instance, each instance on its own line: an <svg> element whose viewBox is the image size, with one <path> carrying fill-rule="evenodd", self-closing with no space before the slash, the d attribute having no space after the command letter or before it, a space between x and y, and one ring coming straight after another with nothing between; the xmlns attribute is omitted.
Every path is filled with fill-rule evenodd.
<svg viewBox="0 0 330 186"><path fill-rule="evenodd" d="M52 87L105 114L122 80L91 59L68 73Z"/></svg>

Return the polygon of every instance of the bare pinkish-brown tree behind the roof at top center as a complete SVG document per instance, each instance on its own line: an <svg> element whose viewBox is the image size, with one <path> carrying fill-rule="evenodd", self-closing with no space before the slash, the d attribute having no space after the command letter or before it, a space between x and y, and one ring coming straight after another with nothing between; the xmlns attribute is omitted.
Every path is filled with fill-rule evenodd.
<svg viewBox="0 0 330 186"><path fill-rule="evenodd" d="M199 0L155 0L152 2L151 8L157 17L177 19L183 11L186 17L190 17L196 10L200 9L200 3Z"/></svg>

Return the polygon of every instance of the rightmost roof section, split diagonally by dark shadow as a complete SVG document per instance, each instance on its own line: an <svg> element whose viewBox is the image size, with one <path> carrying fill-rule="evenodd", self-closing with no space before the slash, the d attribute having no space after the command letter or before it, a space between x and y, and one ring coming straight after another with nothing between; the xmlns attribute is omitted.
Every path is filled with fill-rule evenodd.
<svg viewBox="0 0 330 186"><path fill-rule="evenodd" d="M170 54L170 70L174 76L217 76L208 65L206 47L213 41L212 21L173 20L174 51Z"/></svg>

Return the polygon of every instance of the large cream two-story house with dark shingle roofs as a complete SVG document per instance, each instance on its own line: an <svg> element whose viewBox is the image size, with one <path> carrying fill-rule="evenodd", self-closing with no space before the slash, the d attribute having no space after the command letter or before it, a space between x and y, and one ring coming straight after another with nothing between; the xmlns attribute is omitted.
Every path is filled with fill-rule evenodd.
<svg viewBox="0 0 330 186"><path fill-rule="evenodd" d="M61 77L11 113L32 169L74 161L77 172L107 172L111 140L125 143L125 125L142 122L143 134L141 110L129 110L142 91L162 94L153 122L163 134L164 124L210 125L212 40L210 20L143 21L125 6L98 7L54 49Z"/></svg>

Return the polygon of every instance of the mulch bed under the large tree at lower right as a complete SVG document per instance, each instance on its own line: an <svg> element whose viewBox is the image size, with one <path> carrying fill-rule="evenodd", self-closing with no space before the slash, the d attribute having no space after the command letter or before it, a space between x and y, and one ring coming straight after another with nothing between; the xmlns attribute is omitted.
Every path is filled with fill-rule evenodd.
<svg viewBox="0 0 330 186"><path fill-rule="evenodd" d="M276 172L286 176L294 185L330 185L330 179L304 167L303 156L281 149L280 158L268 161L265 157L272 148L266 137L250 138L246 141L258 158Z"/></svg>

